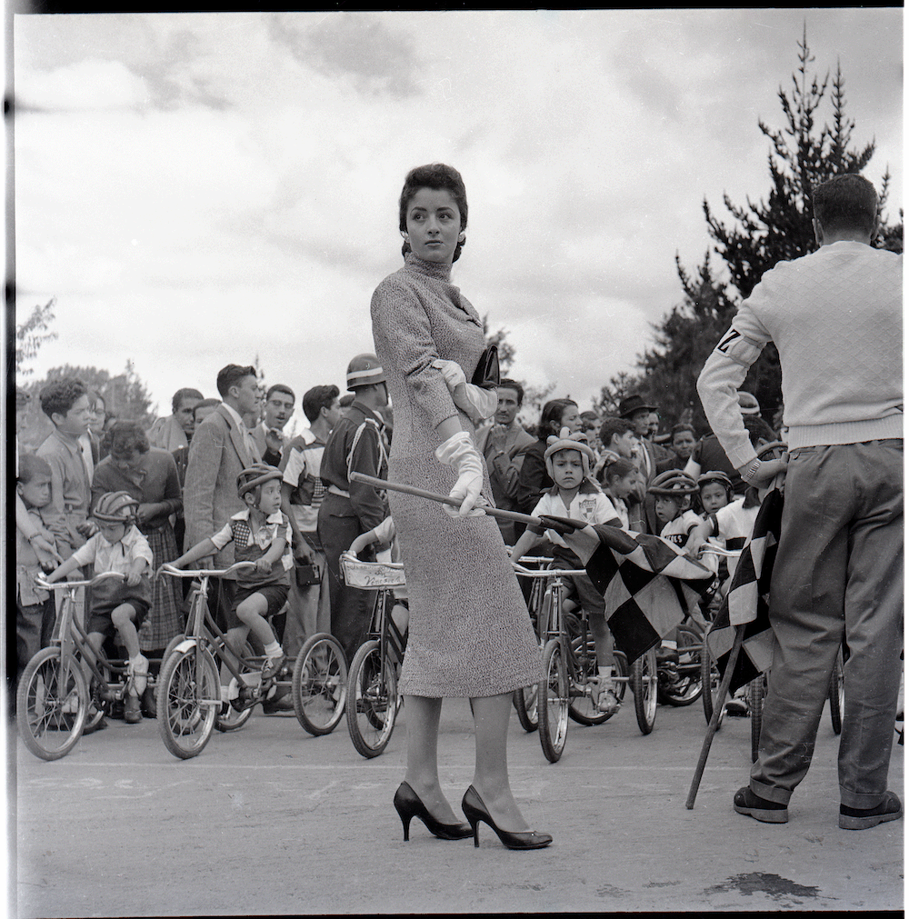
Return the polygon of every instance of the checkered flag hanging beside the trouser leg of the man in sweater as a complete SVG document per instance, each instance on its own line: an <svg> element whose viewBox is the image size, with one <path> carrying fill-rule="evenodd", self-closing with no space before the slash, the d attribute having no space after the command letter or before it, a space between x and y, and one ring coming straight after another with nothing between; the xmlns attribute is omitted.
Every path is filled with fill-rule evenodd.
<svg viewBox="0 0 909 919"><path fill-rule="evenodd" d="M773 657L773 632L767 600L782 518L783 494L778 488L772 488L761 503L752 537L739 556L729 593L723 598L707 633L710 653L721 674L724 674L733 647L735 627L745 627L742 640L744 654L738 655L733 667L730 692L766 673Z"/></svg>

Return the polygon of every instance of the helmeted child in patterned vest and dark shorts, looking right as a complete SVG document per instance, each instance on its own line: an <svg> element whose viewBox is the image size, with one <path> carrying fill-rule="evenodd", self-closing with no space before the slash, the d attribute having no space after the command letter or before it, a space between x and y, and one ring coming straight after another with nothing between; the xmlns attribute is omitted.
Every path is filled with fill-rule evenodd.
<svg viewBox="0 0 909 919"><path fill-rule="evenodd" d="M237 591L227 617L227 643L234 654L243 652L252 631L265 650L262 679L280 673L286 658L267 617L280 612L290 592L290 521L281 512L283 473L274 466L254 463L237 476L237 494L244 510L234 514L224 527L209 539L202 539L171 564L185 568L233 542L235 562L251 562L253 571L238 570ZM222 703L229 699L232 674L222 667Z"/></svg>

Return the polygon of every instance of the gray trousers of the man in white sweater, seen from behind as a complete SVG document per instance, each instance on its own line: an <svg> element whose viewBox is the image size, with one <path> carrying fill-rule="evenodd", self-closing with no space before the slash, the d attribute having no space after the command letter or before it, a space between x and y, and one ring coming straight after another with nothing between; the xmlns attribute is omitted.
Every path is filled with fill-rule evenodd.
<svg viewBox="0 0 909 919"><path fill-rule="evenodd" d="M840 802L887 790L903 664L903 442L794 450L770 590L773 664L751 789L786 804L811 764L844 637Z"/></svg>

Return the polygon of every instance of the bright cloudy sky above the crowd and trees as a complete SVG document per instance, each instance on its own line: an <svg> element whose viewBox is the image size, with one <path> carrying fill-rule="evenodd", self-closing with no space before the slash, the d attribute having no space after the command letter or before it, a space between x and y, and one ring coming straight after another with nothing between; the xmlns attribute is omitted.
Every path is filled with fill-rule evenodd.
<svg viewBox="0 0 909 919"><path fill-rule="evenodd" d="M59 335L35 375L131 358L161 414L256 356L343 389L403 177L444 161L470 201L453 281L517 379L589 407L681 300L703 199L767 194L757 121L782 127L803 23L895 220L902 9L14 17L17 310L55 297Z"/></svg>

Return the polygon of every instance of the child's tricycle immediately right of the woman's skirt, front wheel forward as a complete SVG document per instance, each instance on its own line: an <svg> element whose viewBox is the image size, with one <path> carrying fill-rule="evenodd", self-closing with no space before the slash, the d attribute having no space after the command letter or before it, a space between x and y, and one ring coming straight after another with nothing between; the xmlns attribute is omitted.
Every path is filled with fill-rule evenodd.
<svg viewBox="0 0 909 919"><path fill-rule="evenodd" d="M546 758L556 763L565 747L569 718L579 724L602 724L611 717L611 713L597 709L597 699L593 697L597 653L587 627L585 610L582 607L578 615L564 609L568 591L564 578L586 572L583 569L565 571L555 568L533 571L517 563L514 567L521 577L540 578L548 582L542 594L544 606L537 613L538 621L541 619L544 623L540 628L545 639L543 679L538 687L537 705L540 745ZM615 658L613 682L620 701L629 677L626 675L624 655L616 652ZM648 684L645 691L653 693L655 705L655 686Z"/></svg>

